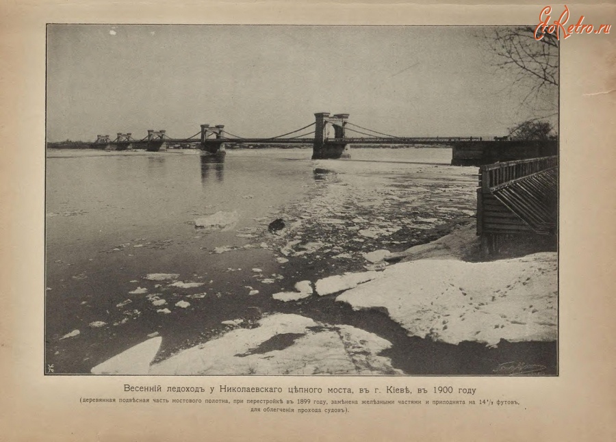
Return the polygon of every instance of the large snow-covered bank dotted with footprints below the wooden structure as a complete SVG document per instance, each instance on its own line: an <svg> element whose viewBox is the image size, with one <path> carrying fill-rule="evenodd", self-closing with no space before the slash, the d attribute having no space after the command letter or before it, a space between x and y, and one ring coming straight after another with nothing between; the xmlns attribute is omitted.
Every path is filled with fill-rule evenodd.
<svg viewBox="0 0 616 442"><path fill-rule="evenodd" d="M357 310L385 310L409 335L435 341L556 341L557 255L398 263L336 300Z"/></svg>

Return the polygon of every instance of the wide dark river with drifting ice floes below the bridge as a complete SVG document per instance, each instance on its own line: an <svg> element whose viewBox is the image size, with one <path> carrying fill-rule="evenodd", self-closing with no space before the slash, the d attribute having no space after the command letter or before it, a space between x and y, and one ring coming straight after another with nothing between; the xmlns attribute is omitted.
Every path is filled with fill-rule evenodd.
<svg viewBox="0 0 616 442"><path fill-rule="evenodd" d="M222 321L298 309L271 295L299 278L363 270L364 252L403 250L473 216L477 168L449 166L449 148L310 156L300 148L228 151L224 161L196 151L48 151L46 362L57 374L89 373L149 335L164 337L164 359L218 335ZM194 225L217 212L237 222ZM277 218L295 226L292 236L268 232ZM178 274L185 285L144 279L153 273ZM303 314L329 314L327 302L329 310ZM343 313L331 314L343 321Z"/></svg>

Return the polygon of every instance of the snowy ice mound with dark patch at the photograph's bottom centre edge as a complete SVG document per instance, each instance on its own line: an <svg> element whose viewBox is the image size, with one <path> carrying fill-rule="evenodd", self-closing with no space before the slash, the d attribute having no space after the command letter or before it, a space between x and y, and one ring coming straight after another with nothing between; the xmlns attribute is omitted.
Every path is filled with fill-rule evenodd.
<svg viewBox="0 0 616 442"><path fill-rule="evenodd" d="M378 356L391 343L359 328L274 314L183 350L149 374L402 374Z"/></svg>

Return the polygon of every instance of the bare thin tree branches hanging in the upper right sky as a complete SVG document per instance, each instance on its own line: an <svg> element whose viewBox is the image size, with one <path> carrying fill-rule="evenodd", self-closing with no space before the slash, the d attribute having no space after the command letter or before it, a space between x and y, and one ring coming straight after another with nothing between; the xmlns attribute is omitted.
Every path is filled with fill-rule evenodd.
<svg viewBox="0 0 616 442"><path fill-rule="evenodd" d="M559 41L554 34L541 34L543 38L537 40L531 26L489 29L486 38L496 54L494 66L515 74L512 87L528 88L522 104L558 90Z"/></svg>

